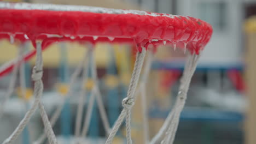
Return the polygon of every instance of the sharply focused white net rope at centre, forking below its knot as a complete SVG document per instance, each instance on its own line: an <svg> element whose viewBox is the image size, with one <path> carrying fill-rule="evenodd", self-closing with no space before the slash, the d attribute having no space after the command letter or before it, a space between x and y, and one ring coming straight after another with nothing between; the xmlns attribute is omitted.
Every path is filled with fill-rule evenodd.
<svg viewBox="0 0 256 144"><path fill-rule="evenodd" d="M115 134L123 123L124 118L126 118L126 139L127 144L131 144L131 109L135 104L135 90L137 87L139 74L141 73L141 68L143 65L144 57L146 55L146 49L143 47L142 52L137 52L135 66L133 68L132 77L130 81L130 85L127 92L127 97L123 99L122 105L124 109L121 111L117 121L114 123L111 133L108 136L106 144L112 143Z"/></svg>

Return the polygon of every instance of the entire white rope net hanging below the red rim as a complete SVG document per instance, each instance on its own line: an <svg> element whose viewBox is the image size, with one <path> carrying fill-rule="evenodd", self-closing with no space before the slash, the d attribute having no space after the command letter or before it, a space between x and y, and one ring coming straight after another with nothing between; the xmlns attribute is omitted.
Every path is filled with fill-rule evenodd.
<svg viewBox="0 0 256 144"><path fill-rule="evenodd" d="M65 7L63 7L65 8ZM96 9L98 10L98 9ZM127 13L129 11L126 11ZM113 12L114 13L114 12ZM125 13L125 11L124 11ZM129 12L131 13L131 12ZM137 12L138 13L138 12ZM132 143L131 138L131 111L132 107L135 104L136 101L136 93L141 93L142 97L142 111L143 111L143 129L144 129L144 142L145 143L173 143L174 137L178 128L179 123L179 116L181 115L181 111L184 107L185 100L187 99L187 92L189 89L189 84L191 77L194 74L196 63L199 59L198 55L192 54L189 55L187 62L185 63L184 73L181 79L181 86L179 87L178 96L176 99L176 103L174 104L174 107L172 111L168 114L166 121L162 125L159 132L153 137L152 140L149 140L149 128L148 128L148 117L147 117L147 106L146 106L146 98L147 98L147 89L146 89L146 83L150 71L150 66L152 65L153 61L153 52L152 50L148 50L148 56L146 59L146 64L144 64L143 74L141 77L141 81L138 85L139 81L139 75L142 70L144 57L146 55L146 49L143 47L143 50L141 52L137 52L136 55L136 62L135 66L133 68L131 81L129 85L129 89L127 91L127 97L123 99L122 105L123 110L121 111L117 121L114 123L113 127L110 128L106 110L103 106L103 101L101 98L101 92L98 86L98 78L97 78L97 72L96 72L96 64L95 64L95 58L94 58L94 47L92 45L89 45L88 52L85 53L84 58L82 61L78 64L78 67L75 69L74 73L71 76L71 80L69 83L69 90L65 96L65 99L62 100L61 104L57 107L55 110L53 116L48 119L48 116L46 115L44 105L42 103L41 97L43 93L43 82L42 82L42 76L43 76L43 58L42 58L42 43L40 41L37 41L36 45L37 49L37 55L36 55L36 65L33 68L32 71L32 80L34 81L34 101L31 105L30 109L26 112L26 115L19 123L18 127L13 131L13 133L4 140L3 144L7 143L13 143L17 137L21 134L22 130L24 130L27 123L30 121L33 113L39 108L40 116L43 119L44 124L44 134L42 134L37 141L34 143L43 143L45 138L48 138L49 143L56 144L57 139L54 134L54 131L52 129L53 125L55 125L57 118L59 118L61 114L62 107L65 103L65 99L68 99L72 97L73 91L74 91L74 83L78 79L79 73L83 71L83 82L86 82L88 80L88 72L91 71L92 74L92 80L94 81L94 87L92 88L92 94L88 102L88 108L86 111L86 116L84 122L82 122L82 113L83 113L83 107L84 107L84 101L85 101L85 89L83 89L79 94L79 104L77 109L77 116L75 121L75 137L78 138L84 138L86 134L88 133L89 125L90 125L90 119L92 114L92 107L94 105L94 101L96 100L98 109L100 111L100 116L103 122L104 130L108 134L108 138L106 140L106 144L112 143L114 136L116 135L117 131L120 128L120 125L123 123L124 119L126 122L126 138L127 138L127 144ZM20 50L21 51L21 50ZM19 61L21 56L21 52L19 52L18 59ZM91 68L88 68L89 63L91 64ZM4 96L4 100L1 103L1 109L0 109L0 117L3 113L4 104L10 97L11 93L14 89L14 83L16 81L16 76L18 73L18 64L15 65L13 70L13 76L11 77L9 88ZM138 85L138 87L137 87ZM137 90L136 90L137 89ZM83 124L82 124L83 123ZM83 127L81 126L83 125ZM79 142L79 141L78 141Z"/></svg>

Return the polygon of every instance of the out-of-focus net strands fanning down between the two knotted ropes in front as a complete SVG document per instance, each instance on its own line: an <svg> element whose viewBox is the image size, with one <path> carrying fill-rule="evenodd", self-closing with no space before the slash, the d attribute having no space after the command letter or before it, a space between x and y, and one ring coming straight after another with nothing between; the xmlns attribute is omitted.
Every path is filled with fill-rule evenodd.
<svg viewBox="0 0 256 144"><path fill-rule="evenodd" d="M73 86L74 82L77 81L77 77L78 77L80 71L82 71L82 69L83 69L83 64L86 64L86 61L90 62L91 66L92 66L92 68L91 68L92 79L94 80L95 85L94 85L94 88L92 88L92 94L91 94L91 97L90 97L90 100L89 100L89 105L88 105L88 109L87 109L86 116L85 116L85 122L84 122L84 127L83 127L83 130L82 130L82 134L80 134L79 131L80 131L80 125L81 125L81 120L82 120L82 112L83 112L83 111L81 112L81 108L83 108L84 101L83 100L79 101L78 113L77 113L78 119L77 119L76 126L75 126L77 128L77 129L75 129L75 136L77 136L77 137L79 137L79 136L85 137L86 134L87 134L89 124L90 124L91 114L92 114L92 107L93 107L93 104L94 104L95 97L96 97L98 109L100 110L100 115L101 115L101 118L102 118L104 129L106 130L107 134L109 134L109 132L110 132L110 126L109 126L109 123L108 123L107 114L106 114L106 111L104 110L104 105L103 105L103 102L102 102L102 99L101 99L101 93L100 93L100 90L99 90L98 84L97 84L98 82L97 82L96 65L95 65L95 60L94 60L94 51L93 51L93 47L91 45L89 45L89 47L90 48L89 48L88 52L86 52L86 55L85 55L82 63L79 64L79 67L75 70L74 74L72 75L72 79L71 79L71 83L70 83L70 86L71 86L71 89L72 89L72 86ZM88 61L88 58L90 58L89 59L90 61ZM86 82L87 81L86 79L88 79L88 68L86 67L86 65L84 65L83 70L84 70L84 74L83 74L83 79L84 80L83 80L83 82ZM70 97L72 95L72 92L73 91L69 89L69 92L67 94L68 97ZM85 91L82 90L80 95L85 95ZM66 99L68 97L66 97ZM81 101L83 103L81 103ZM64 103L62 102L61 105L55 111L55 113L53 115L53 118L51 119L51 124L52 125L55 124L57 118L60 116L63 104ZM43 134L34 143L42 143L45 138L46 138L46 135Z"/></svg>

